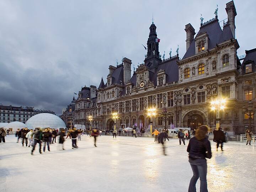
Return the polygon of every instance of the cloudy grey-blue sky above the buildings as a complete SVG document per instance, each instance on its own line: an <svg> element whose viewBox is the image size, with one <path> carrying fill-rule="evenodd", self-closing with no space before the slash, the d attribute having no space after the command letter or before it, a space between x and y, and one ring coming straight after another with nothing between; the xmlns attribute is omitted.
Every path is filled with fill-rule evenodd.
<svg viewBox="0 0 256 192"><path fill-rule="evenodd" d="M198 32L214 17L226 19L228 1L146 0L1 0L0 1L0 102L33 106L57 114L81 86L100 84L108 65L122 57L135 66L142 63L152 12L161 39L159 49L168 55L179 45L186 51L185 25ZM238 55L256 47L256 1L235 1ZM222 22L221 22L222 23Z"/></svg>

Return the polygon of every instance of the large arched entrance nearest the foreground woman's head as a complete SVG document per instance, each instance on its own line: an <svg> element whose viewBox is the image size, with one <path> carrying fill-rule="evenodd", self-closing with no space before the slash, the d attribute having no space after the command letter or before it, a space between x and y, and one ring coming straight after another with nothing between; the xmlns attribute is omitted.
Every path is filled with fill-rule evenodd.
<svg viewBox="0 0 256 192"><path fill-rule="evenodd" d="M204 121L203 116L198 111L188 112L183 118L183 127L188 127L191 130L204 124L207 124L207 122Z"/></svg>

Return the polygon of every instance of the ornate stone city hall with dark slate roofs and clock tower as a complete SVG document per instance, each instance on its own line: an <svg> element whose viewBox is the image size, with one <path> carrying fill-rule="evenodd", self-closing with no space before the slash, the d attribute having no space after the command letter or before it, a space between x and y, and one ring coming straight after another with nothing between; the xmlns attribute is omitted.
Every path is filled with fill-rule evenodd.
<svg viewBox="0 0 256 192"><path fill-rule="evenodd" d="M221 23L223 27L217 12L213 19L201 22L197 34L190 23L185 26L187 50L183 57L177 50L177 55L161 58L156 26L152 23L144 63L131 74L132 60L123 58L122 64L109 66L106 83L102 78L98 89L93 85L82 87L74 101L75 124L89 126L91 115L92 127L111 129L115 122L112 113L117 112L117 128L125 124L148 129L147 110L155 108L153 127L163 128L165 119L168 128L215 128L216 111L211 110L210 101L224 98L220 126L230 135L244 133L250 116L242 107L249 101L256 104L256 49L246 50L240 62L234 2L228 2L225 9L228 20ZM251 116L252 127L254 117Z"/></svg>

